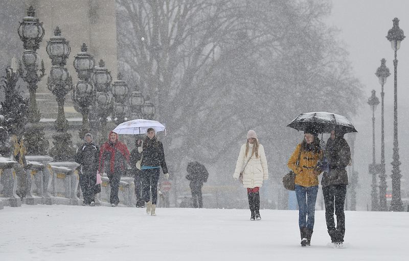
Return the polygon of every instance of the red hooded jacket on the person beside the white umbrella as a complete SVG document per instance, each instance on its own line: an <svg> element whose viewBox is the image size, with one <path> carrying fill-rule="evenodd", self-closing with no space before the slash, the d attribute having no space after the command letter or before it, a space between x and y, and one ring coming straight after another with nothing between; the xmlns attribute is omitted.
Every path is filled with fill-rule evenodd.
<svg viewBox="0 0 409 261"><path fill-rule="evenodd" d="M113 131L109 132L108 141L106 141L99 152L99 172L104 171L104 163L109 164L109 168L106 168L108 173L117 173L124 171L126 168L126 162L129 162L129 151L125 144L121 143L117 138L114 143L109 140L109 136Z"/></svg>

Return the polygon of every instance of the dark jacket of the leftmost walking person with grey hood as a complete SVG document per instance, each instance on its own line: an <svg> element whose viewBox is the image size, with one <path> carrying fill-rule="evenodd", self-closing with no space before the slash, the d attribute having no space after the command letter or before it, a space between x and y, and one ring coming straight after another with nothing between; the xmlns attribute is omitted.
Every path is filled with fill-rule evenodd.
<svg viewBox="0 0 409 261"><path fill-rule="evenodd" d="M77 149L75 162L81 165L82 174L96 175L98 170L99 148L94 143L83 143Z"/></svg>

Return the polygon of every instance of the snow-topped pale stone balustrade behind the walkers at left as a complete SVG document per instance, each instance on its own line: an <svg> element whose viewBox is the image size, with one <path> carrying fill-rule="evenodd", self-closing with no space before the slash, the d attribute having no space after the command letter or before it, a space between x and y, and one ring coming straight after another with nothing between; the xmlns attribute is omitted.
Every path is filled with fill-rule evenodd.
<svg viewBox="0 0 409 261"><path fill-rule="evenodd" d="M16 161L0 157L0 209L21 204L81 204L82 199L77 197L78 164L51 161L52 158L48 156L27 156L27 166L22 169ZM16 194L18 175L24 175L21 178L26 178L27 182L23 200ZM110 205L109 195L109 179L102 176L101 193L97 195L101 205ZM120 206L135 206L133 178L121 177L118 196Z"/></svg>

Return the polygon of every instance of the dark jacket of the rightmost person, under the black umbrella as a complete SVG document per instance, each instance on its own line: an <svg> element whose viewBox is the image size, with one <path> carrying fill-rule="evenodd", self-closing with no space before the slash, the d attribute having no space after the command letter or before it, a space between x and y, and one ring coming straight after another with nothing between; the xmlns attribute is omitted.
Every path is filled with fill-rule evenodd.
<svg viewBox="0 0 409 261"><path fill-rule="evenodd" d="M343 137L331 138L327 141L327 148L324 152L328 160L329 172L324 173L321 184L328 185L348 185L348 174L345 168L351 159L351 151L347 141Z"/></svg>

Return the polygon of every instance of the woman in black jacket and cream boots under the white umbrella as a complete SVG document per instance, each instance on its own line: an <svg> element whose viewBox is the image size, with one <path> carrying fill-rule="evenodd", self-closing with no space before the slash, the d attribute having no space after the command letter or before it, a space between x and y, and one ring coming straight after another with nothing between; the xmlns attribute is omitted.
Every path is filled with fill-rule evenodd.
<svg viewBox="0 0 409 261"><path fill-rule="evenodd" d="M155 130L149 128L146 138L138 146L138 152L142 154L142 195L146 202L146 213L156 216L157 182L159 181L160 168L162 168L165 178L169 178L163 145L156 138ZM152 193L152 199L150 198L150 192Z"/></svg>

